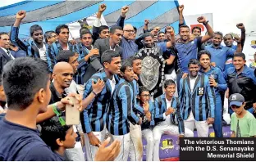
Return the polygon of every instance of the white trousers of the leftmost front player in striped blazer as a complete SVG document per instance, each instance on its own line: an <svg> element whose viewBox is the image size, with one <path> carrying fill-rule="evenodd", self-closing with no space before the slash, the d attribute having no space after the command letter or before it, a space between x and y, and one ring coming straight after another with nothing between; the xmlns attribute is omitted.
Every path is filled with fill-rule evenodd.
<svg viewBox="0 0 256 162"><path fill-rule="evenodd" d="M95 137L98 137L100 142L103 142L106 134L106 128L103 128L101 132L93 132L93 133ZM87 161L94 161L94 157L97 151L98 151L98 146L90 145L89 137L87 133L85 133L85 152L86 152Z"/></svg>

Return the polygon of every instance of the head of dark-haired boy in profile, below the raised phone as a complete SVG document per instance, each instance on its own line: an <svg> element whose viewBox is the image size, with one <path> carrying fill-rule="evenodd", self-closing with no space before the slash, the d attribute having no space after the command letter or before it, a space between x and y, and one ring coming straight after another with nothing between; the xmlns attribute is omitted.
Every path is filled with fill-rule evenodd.
<svg viewBox="0 0 256 162"><path fill-rule="evenodd" d="M49 119L42 124L41 138L51 147L59 161L64 160L66 149L75 147L76 137L73 127L62 126L58 118Z"/></svg>

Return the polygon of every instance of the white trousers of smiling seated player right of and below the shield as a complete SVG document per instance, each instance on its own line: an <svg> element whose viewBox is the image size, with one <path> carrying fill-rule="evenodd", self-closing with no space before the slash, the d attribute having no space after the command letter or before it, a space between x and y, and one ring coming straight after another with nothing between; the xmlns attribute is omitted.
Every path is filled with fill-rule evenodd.
<svg viewBox="0 0 256 162"><path fill-rule="evenodd" d="M175 135L179 136L179 127L171 124L170 121L170 115L167 115L167 119L165 121L162 121L160 124L155 126L153 128L153 160L154 161L160 161L159 160L159 144L161 141L162 134L169 134L169 135ZM185 137L194 137L194 133L188 129L185 128Z"/></svg>

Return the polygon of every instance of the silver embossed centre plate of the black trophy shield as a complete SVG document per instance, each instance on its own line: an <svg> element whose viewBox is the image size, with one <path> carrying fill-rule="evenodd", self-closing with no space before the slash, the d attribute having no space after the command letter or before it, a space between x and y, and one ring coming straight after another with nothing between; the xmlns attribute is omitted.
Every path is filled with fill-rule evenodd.
<svg viewBox="0 0 256 162"><path fill-rule="evenodd" d="M139 78L144 87L151 91L158 83L159 67L161 64L152 56L145 56L141 63L142 68Z"/></svg>

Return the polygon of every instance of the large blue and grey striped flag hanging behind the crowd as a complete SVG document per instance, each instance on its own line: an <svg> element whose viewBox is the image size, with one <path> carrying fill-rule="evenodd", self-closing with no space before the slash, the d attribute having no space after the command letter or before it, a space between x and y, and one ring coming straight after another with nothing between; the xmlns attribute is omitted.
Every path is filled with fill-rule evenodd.
<svg viewBox="0 0 256 162"><path fill-rule="evenodd" d="M102 24L108 26L115 25L120 14L121 7L129 6L130 10L126 14L125 24L134 25L138 30L138 35L143 33L144 20L149 19L149 29L159 26L164 29L171 25L178 32L179 6L177 0L171 1L23 1L15 4L0 7L0 31L10 32L11 25L15 22L16 12L26 11L25 19L21 22L20 38L30 36L30 26L40 25L43 32L55 30L57 25L66 24L71 27L71 35L79 36L79 20L86 20L92 27L98 6L106 4L107 9L103 12Z"/></svg>

